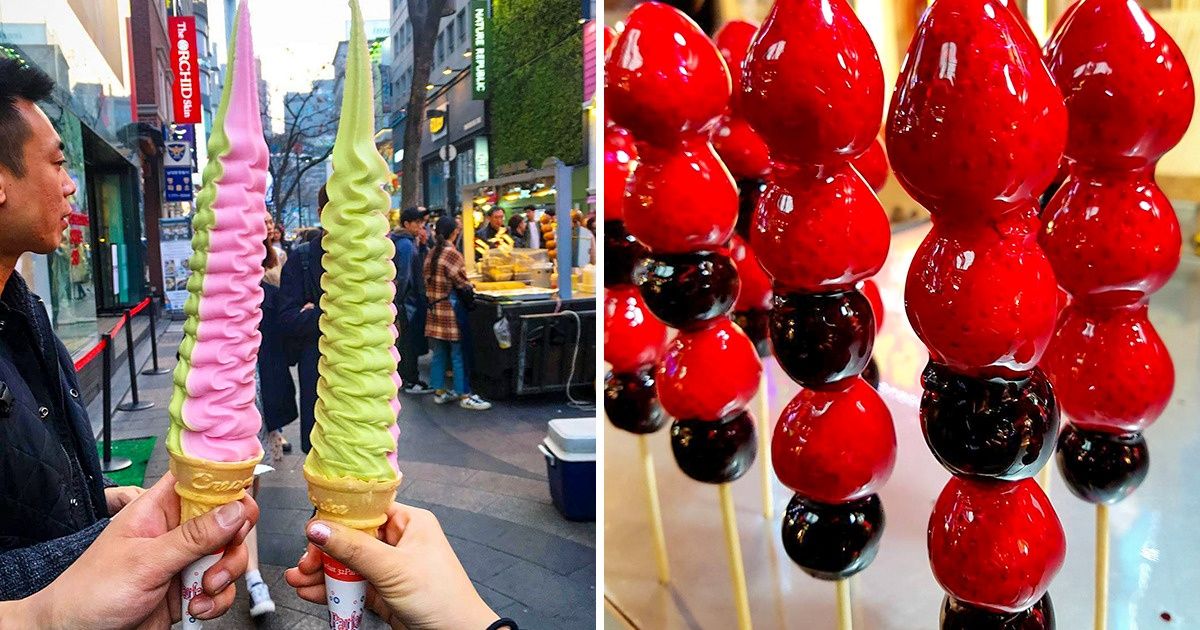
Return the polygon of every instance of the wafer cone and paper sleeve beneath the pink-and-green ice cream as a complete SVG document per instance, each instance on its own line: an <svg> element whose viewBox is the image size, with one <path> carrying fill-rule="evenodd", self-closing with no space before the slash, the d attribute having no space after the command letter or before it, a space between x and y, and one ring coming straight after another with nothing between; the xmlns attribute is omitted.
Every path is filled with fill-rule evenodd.
<svg viewBox="0 0 1200 630"><path fill-rule="evenodd" d="M175 494L179 496L179 522L204 516L227 503L241 500L246 488L254 481L254 467L262 455L242 462L210 462L181 454L170 454L170 472L175 475ZM221 553L205 556L196 560L180 576L182 589L182 628L198 630L199 619L187 613L192 598L200 594L200 578L217 560Z"/></svg>

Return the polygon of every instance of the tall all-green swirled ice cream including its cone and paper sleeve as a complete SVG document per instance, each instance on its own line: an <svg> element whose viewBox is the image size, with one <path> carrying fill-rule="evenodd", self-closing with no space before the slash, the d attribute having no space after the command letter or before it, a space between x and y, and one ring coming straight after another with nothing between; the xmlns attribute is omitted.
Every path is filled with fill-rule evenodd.
<svg viewBox="0 0 1200 630"><path fill-rule="evenodd" d="M395 248L388 238L388 163L374 144L374 89L362 13L350 0L350 42L334 173L322 211L320 361L312 450L305 460L317 517L374 535L401 474L396 464ZM365 584L325 560L330 624L361 618Z"/></svg>

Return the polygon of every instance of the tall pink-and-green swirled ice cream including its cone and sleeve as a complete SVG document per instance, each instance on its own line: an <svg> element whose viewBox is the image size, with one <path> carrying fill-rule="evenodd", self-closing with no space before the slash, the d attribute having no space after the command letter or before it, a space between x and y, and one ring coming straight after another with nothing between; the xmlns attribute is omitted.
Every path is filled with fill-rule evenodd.
<svg viewBox="0 0 1200 630"><path fill-rule="evenodd" d="M244 497L263 456L254 370L266 253L268 150L245 0L238 7L228 68L192 218L187 319L167 434L184 521ZM187 616L187 595L194 593L190 584L218 557L200 560L182 576L185 628L199 626Z"/></svg>

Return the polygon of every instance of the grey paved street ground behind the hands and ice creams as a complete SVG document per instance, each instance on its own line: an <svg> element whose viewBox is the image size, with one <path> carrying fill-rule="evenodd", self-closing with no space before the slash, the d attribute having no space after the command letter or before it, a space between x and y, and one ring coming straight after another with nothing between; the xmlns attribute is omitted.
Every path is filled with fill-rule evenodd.
<svg viewBox="0 0 1200 630"><path fill-rule="evenodd" d="M182 337L174 323L160 338L162 365L175 364ZM170 376L140 376L144 412L116 412L114 439L157 436L146 485L167 472L167 407ZM120 401L120 395L114 395ZM401 397L400 462L404 481L397 500L433 511L484 599L522 628L587 629L595 624L595 526L564 520L550 502L546 467L536 444L552 418L593 415L550 401L498 403L487 412L437 406L432 396ZM284 430L295 445L278 470L262 478L258 503L259 560L277 611L257 624L270 629L328 628L325 607L296 598L283 582L305 548L312 514L301 475L299 422ZM238 602L205 628L256 628L245 583ZM368 614L364 628L384 628ZM464 629L472 630L472 629ZM481 629L480 629L481 630Z"/></svg>

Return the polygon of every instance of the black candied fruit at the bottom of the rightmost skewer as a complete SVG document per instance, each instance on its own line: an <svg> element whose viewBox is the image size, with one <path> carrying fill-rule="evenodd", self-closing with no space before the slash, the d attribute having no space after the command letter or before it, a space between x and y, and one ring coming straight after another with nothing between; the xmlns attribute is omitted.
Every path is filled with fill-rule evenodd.
<svg viewBox="0 0 1200 630"><path fill-rule="evenodd" d="M1058 469L1072 494L1117 503L1146 480L1150 448L1141 433L1103 433L1068 425L1058 437Z"/></svg>

